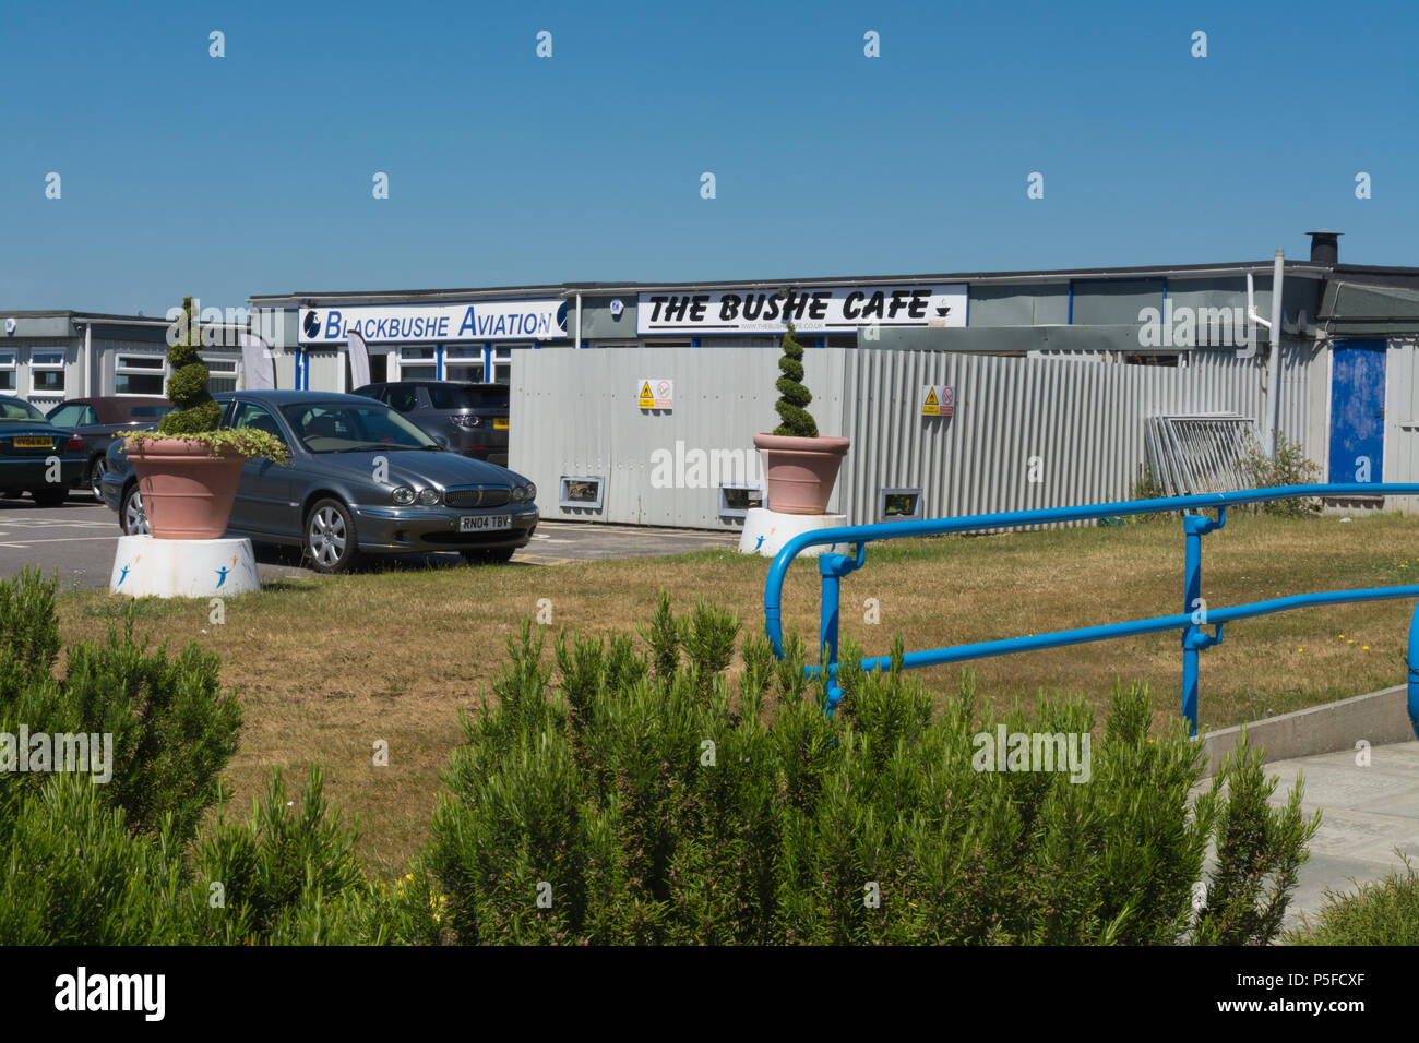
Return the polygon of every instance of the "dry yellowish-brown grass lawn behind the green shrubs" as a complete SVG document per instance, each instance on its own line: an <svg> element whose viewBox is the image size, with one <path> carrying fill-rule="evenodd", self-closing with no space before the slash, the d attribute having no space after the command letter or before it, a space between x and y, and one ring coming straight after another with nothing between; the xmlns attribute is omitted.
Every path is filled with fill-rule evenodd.
<svg viewBox="0 0 1419 1043"><path fill-rule="evenodd" d="M1203 538L1203 596L1220 607L1419 582L1416 536L1419 521L1398 515L1236 517ZM228 772L233 812L245 813L271 768L299 780L321 763L331 800L359 816L362 854L393 873L427 836L438 769L461 741L458 711L477 710L508 637L539 599L552 603L548 631L631 629L646 622L660 587L677 610L704 595L738 610L744 631L759 631L766 570L766 559L707 551L552 568L365 572L230 599L221 626L209 623L206 603L145 602L138 630L220 653L245 715ZM880 602L878 626L864 623L868 597ZM125 605L106 592L65 593L65 641L101 639ZM812 563L790 570L785 605L788 629L815 643ZM1379 602L1229 624L1226 640L1202 653L1203 729L1402 683L1412 607ZM890 651L897 631L907 649L929 649L1179 610L1176 521L884 543L843 585L843 633L873 654ZM1137 680L1151 685L1164 725L1181 701L1176 634L982 660L973 670L998 705L1044 690L1080 692L1103 708L1115 680ZM918 671L939 694L954 691L959 674ZM389 742L387 768L372 766L376 739Z"/></svg>

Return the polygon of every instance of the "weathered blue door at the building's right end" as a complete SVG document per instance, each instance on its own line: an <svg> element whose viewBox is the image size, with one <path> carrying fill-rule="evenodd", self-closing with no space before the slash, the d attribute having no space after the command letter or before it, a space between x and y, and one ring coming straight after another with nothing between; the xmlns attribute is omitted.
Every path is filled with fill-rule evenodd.
<svg viewBox="0 0 1419 1043"><path fill-rule="evenodd" d="M1384 481L1385 342L1337 341L1332 352L1330 481Z"/></svg>

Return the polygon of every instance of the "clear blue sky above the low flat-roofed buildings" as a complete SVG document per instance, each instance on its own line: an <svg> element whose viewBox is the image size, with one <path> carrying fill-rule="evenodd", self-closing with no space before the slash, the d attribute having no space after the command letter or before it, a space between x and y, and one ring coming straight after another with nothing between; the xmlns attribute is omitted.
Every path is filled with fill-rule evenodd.
<svg viewBox="0 0 1419 1043"><path fill-rule="evenodd" d="M1323 226L1415 265L1416 41L1412 0L3 0L0 308L1236 261Z"/></svg>

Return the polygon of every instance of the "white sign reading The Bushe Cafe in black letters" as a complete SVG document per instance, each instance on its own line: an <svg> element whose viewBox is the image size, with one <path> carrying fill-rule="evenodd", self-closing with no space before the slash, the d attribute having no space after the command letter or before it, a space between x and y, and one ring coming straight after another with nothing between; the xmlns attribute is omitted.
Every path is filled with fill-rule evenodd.
<svg viewBox="0 0 1419 1043"><path fill-rule="evenodd" d="M636 307L640 335L779 333L786 321L815 333L851 333L863 326L964 326L966 284L660 292L641 294Z"/></svg>

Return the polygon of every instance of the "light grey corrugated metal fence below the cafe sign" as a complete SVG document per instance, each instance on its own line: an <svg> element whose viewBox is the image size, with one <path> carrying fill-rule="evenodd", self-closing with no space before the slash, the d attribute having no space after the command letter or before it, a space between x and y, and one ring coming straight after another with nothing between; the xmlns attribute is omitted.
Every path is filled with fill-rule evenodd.
<svg viewBox="0 0 1419 1043"><path fill-rule="evenodd" d="M805 368L820 431L853 441L829 505L849 524L877 521L884 488L922 490L922 517L1121 500L1145 460L1148 417L1259 417L1266 386L1257 359L1225 351L1168 368L827 348ZM1283 386L1304 397L1304 365L1287 370ZM639 382L653 377L674 380L671 412L637 407ZM509 465L538 484L546 518L735 528L695 474L657 488L656 454L674 460L677 443L752 454L753 433L778 421L776 377L778 353L762 348L518 352ZM955 389L954 416L922 416L925 385ZM1293 417L1304 423L1304 407L1283 403L1283 430ZM559 508L562 475L603 477L602 509Z"/></svg>

